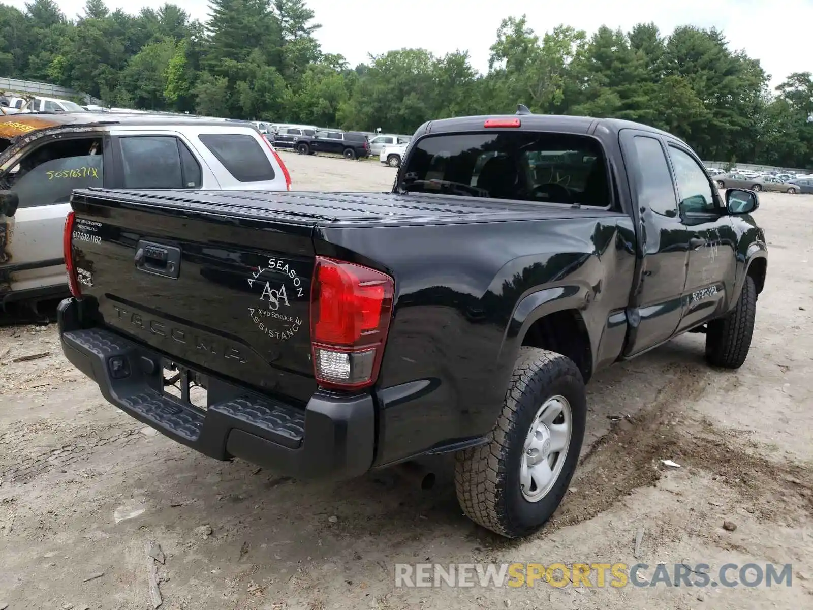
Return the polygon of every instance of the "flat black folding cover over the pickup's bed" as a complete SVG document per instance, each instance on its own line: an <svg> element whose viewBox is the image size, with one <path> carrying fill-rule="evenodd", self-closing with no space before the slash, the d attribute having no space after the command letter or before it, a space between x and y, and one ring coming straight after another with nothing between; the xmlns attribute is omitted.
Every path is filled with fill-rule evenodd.
<svg viewBox="0 0 813 610"><path fill-rule="evenodd" d="M286 224L426 224L487 222L489 220L546 220L615 215L598 207L561 203L517 202L456 195L346 193L312 191L201 191L201 190L77 190L79 198L104 198L128 206L179 209L204 215L275 220Z"/></svg>

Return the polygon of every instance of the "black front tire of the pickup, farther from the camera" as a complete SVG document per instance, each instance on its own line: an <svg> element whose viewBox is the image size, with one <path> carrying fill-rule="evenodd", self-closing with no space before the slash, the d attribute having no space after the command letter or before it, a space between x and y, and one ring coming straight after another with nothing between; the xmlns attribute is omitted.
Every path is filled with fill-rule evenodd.
<svg viewBox="0 0 813 610"><path fill-rule="evenodd" d="M754 278L746 276L733 312L711 320L706 331L706 360L721 368L740 368L748 357L754 335L757 289Z"/></svg>

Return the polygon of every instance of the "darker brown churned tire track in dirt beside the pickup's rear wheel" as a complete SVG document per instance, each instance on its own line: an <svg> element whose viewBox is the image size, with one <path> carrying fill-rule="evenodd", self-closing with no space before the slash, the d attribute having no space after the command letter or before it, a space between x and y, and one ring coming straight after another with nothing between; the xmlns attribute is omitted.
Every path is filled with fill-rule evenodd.
<svg viewBox="0 0 813 610"><path fill-rule="evenodd" d="M667 459L715 475L759 518L813 515L811 464L767 460L747 451L736 432L716 429L691 413L691 405L719 381L719 373L674 364L661 374L671 378L654 401L628 420L615 422L582 457L571 483L576 491L566 496L542 535L588 521L640 487L656 486L663 473L659 460ZM777 495L785 499L782 508L772 502Z"/></svg>

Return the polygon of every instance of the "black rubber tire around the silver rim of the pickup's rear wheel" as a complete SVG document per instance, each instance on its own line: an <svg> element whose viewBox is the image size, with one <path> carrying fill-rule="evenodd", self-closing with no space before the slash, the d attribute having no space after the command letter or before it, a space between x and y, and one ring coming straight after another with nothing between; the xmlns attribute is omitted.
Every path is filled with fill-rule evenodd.
<svg viewBox="0 0 813 610"><path fill-rule="evenodd" d="M570 403L570 444L553 486L541 499L530 502L520 488L525 438L537 410L557 395ZM525 536L541 527L567 492L585 437L586 417L585 382L576 364L552 351L521 347L488 442L455 455L454 487L466 516L506 538Z"/></svg>

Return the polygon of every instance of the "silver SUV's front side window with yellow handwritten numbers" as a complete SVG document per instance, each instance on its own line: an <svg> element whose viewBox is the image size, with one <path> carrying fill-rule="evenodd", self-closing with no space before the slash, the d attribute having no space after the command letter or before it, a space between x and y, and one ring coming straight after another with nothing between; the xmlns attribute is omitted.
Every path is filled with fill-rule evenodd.
<svg viewBox="0 0 813 610"><path fill-rule="evenodd" d="M20 207L67 203L74 189L102 187L102 146L97 138L65 139L32 150L20 159L17 171L3 177Z"/></svg>

